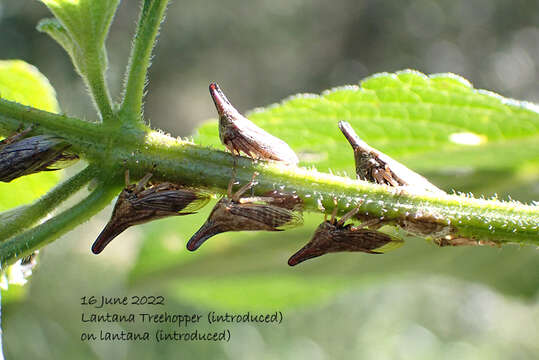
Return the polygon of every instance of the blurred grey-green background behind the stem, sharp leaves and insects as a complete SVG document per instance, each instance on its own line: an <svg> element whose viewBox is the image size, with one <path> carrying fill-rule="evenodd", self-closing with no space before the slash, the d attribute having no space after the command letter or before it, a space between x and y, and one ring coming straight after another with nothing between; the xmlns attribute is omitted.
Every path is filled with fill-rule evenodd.
<svg viewBox="0 0 539 360"><path fill-rule="evenodd" d="M123 1L109 48L118 94L138 2ZM475 87L539 102L539 3L522 1L174 1L155 49L145 116L187 136L215 117L219 82L242 112L298 92L381 71L455 72ZM63 50L35 25L37 1L0 2L0 58L45 74L64 112L94 118ZM319 169L325 170L325 169ZM445 189L525 202L539 198L537 168L428 174ZM207 217L131 228L104 253L90 245L111 207L40 254L24 288L3 293L6 359L535 359L539 256L531 247L444 248L410 238L383 256L329 255L289 268L319 216L283 234L222 234L191 254L185 242ZM80 341L82 296L163 295L145 311L282 311L281 325L227 327L229 343ZM134 312L139 307L109 310ZM152 331L153 327L126 329Z"/></svg>

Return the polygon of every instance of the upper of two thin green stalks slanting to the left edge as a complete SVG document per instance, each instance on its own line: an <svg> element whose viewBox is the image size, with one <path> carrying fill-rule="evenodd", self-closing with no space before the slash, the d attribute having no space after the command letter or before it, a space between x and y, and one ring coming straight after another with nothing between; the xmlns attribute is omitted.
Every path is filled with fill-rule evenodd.
<svg viewBox="0 0 539 360"><path fill-rule="evenodd" d="M67 179L31 205L19 206L0 217L0 241L29 228L44 218L58 205L80 190L95 176L96 169L88 166L78 174Z"/></svg>

